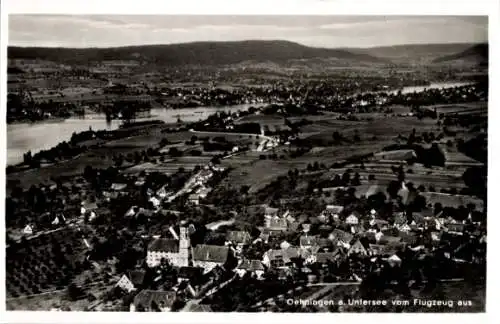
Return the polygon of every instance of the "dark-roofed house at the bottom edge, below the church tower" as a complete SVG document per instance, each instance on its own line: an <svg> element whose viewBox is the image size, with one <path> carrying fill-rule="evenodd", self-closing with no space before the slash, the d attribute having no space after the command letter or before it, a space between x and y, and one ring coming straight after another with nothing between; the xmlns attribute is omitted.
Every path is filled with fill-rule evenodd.
<svg viewBox="0 0 500 324"><path fill-rule="evenodd" d="M160 311L169 312L176 300L176 294L173 291L142 290L130 305L130 311Z"/></svg>

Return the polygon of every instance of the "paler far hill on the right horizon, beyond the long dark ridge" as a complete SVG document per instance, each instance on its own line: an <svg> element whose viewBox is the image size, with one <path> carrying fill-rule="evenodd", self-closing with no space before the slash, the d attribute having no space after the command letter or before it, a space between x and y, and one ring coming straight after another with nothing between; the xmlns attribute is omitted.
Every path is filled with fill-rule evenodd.
<svg viewBox="0 0 500 324"><path fill-rule="evenodd" d="M358 54L366 54L390 60L396 64L429 64L439 58L460 53L474 46L471 43L395 45L371 48L346 48Z"/></svg>

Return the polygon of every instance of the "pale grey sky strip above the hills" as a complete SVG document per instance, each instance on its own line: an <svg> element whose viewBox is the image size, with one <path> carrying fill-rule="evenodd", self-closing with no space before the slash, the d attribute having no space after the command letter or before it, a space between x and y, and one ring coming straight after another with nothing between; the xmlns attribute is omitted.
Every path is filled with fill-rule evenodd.
<svg viewBox="0 0 500 324"><path fill-rule="evenodd" d="M9 15L9 45L116 47L288 40L314 47L479 43L486 16Z"/></svg>

